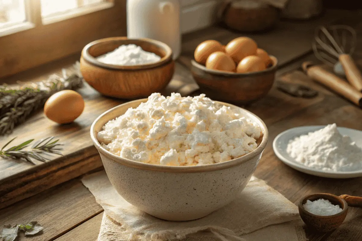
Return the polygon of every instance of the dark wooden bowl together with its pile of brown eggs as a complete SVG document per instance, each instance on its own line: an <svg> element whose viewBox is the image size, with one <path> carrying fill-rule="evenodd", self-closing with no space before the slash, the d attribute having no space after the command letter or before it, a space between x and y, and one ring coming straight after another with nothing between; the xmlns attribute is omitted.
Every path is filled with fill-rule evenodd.
<svg viewBox="0 0 362 241"><path fill-rule="evenodd" d="M194 57L191 72L200 90L211 99L241 104L268 94L278 63L248 37L226 46L206 40L197 46Z"/></svg>

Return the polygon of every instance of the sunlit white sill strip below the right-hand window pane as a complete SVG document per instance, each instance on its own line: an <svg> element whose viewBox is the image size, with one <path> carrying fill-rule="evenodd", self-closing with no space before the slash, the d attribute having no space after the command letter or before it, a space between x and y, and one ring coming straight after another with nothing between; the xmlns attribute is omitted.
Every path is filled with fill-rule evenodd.
<svg viewBox="0 0 362 241"><path fill-rule="evenodd" d="M108 9L114 6L114 3L111 2L105 2L105 3L100 3L100 4L96 4L93 6L89 6L89 7L83 7L83 8L79 8L79 9L72 9L69 12L65 12L65 13L57 13L54 14L52 16L47 16L44 17L42 20L43 25L47 25L47 24L51 24L51 23L55 23L55 22L60 22L63 20L67 20L70 18L74 18L74 17L79 17L81 15L84 14L88 14L88 13L93 13L93 12L97 12L99 10L104 10L104 9Z"/></svg>

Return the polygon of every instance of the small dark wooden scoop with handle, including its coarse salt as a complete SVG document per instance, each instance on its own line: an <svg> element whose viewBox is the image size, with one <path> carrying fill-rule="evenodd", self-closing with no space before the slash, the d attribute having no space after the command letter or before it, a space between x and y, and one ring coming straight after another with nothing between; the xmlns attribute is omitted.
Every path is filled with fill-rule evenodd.
<svg viewBox="0 0 362 241"><path fill-rule="evenodd" d="M316 193L300 199L298 210L308 227L330 232L343 223L349 206L362 207L362 197Z"/></svg>

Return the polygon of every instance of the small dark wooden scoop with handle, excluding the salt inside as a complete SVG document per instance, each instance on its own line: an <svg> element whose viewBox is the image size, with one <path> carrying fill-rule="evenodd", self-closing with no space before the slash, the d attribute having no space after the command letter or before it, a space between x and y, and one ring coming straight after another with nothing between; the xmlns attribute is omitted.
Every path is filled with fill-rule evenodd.
<svg viewBox="0 0 362 241"><path fill-rule="evenodd" d="M315 201L320 198L329 200L333 205L339 205L342 208L342 211L334 215L320 216L312 214L304 209L303 204L306 203L307 200ZM343 223L347 216L348 206L362 207L362 197L350 195L340 195L338 197L329 193L316 193L300 199L298 210L300 217L308 227L319 232L329 232L338 228Z"/></svg>

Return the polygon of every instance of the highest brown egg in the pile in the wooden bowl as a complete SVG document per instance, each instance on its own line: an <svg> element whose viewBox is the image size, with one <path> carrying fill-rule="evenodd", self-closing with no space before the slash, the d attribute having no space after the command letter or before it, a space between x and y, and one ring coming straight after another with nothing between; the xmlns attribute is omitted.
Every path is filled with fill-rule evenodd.
<svg viewBox="0 0 362 241"><path fill-rule="evenodd" d="M248 37L239 37L231 40L225 48L228 55L232 57L235 63L239 63L247 56L255 55L258 46L256 42Z"/></svg>

